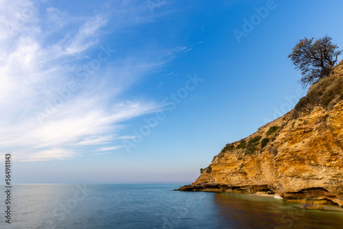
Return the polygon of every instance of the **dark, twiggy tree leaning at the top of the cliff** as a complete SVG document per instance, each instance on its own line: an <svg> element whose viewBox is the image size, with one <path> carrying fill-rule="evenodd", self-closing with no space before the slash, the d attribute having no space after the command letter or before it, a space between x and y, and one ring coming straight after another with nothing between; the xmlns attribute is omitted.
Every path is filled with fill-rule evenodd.
<svg viewBox="0 0 343 229"><path fill-rule="evenodd" d="M330 36L317 40L304 38L299 40L289 54L288 57L291 58L295 69L300 70L303 75L299 82L304 87L329 76L338 61L338 56L343 53L343 50L339 50L331 40Z"/></svg>

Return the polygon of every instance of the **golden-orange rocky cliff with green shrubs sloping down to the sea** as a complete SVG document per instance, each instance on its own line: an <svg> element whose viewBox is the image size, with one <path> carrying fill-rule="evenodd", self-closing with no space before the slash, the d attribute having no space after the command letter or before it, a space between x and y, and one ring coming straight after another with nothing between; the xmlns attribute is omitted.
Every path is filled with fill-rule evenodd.
<svg viewBox="0 0 343 229"><path fill-rule="evenodd" d="M283 117L230 143L180 191L266 193L343 207L343 64Z"/></svg>

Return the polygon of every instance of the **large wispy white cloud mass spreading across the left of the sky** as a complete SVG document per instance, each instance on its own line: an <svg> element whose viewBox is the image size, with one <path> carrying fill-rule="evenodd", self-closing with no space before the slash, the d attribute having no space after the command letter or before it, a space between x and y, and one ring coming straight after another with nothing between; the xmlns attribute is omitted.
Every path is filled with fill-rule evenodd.
<svg viewBox="0 0 343 229"><path fill-rule="evenodd" d="M150 56L139 51L130 53L121 60L117 58L117 62L104 63L87 82L82 82L75 77L76 72L96 60L89 51L102 45L99 40L106 33L110 13L75 20L67 10L46 9L41 3L20 25L16 24L27 5L30 2L0 1L0 149L11 150L18 160L25 161L77 158L91 145L104 154L119 149L106 145L132 138L119 134L125 128L123 121L160 109L141 98L120 101L119 95L140 77L163 67L171 56L188 51L187 47L152 51ZM112 10L119 14L115 26L150 21L141 20L147 10L142 5L128 5ZM41 12L47 14L46 19ZM44 20L54 26L46 27ZM67 25L74 29L64 34ZM78 90L67 95L64 90L70 82ZM56 98L60 98L58 105ZM38 119L42 114L43 124Z"/></svg>

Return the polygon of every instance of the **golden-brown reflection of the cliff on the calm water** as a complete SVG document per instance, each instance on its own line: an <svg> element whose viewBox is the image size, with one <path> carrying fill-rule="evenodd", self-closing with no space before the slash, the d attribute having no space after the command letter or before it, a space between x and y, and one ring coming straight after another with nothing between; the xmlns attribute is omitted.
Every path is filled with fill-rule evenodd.
<svg viewBox="0 0 343 229"><path fill-rule="evenodd" d="M302 210L273 197L216 193L218 224L222 228L343 228L343 209Z"/></svg>

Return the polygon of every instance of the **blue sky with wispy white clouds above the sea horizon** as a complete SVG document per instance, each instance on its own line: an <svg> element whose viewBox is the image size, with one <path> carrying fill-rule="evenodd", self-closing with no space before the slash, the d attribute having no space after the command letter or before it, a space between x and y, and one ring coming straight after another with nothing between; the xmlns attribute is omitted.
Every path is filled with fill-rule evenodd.
<svg viewBox="0 0 343 229"><path fill-rule="evenodd" d="M287 58L300 38L343 47L338 0L0 4L16 183L193 182L305 95Z"/></svg>

